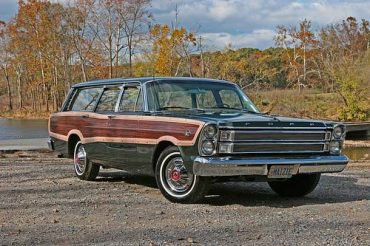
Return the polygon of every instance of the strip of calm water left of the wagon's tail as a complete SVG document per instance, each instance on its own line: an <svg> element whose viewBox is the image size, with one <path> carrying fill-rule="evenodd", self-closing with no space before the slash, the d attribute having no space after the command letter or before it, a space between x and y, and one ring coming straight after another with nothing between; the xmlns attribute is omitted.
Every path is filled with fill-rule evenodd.
<svg viewBox="0 0 370 246"><path fill-rule="evenodd" d="M47 120L0 119L0 140L47 137Z"/></svg>

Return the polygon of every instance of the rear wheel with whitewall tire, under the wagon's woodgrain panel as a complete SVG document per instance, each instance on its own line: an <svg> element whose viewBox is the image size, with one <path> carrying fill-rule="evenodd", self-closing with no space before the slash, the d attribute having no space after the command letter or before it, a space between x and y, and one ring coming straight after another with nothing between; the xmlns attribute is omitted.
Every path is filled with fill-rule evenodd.
<svg viewBox="0 0 370 246"><path fill-rule="evenodd" d="M74 154L73 163L76 176L82 180L94 180L98 174L100 166L91 162L87 157L85 147L81 141L77 142Z"/></svg>

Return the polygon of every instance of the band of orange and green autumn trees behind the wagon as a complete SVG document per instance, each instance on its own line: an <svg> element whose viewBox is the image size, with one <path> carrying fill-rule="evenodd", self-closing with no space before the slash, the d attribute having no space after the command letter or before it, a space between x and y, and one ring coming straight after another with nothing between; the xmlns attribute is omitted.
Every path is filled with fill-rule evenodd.
<svg viewBox="0 0 370 246"><path fill-rule="evenodd" d="M333 105L342 108L341 119L369 117L369 21L348 17L312 30L303 20L277 26L275 48L235 50L230 44L210 52L211 40L177 20L155 24L150 4L20 0L17 14L0 21L0 111L55 111L80 81L192 76L231 80L253 91L334 92L342 98L342 105Z"/></svg>

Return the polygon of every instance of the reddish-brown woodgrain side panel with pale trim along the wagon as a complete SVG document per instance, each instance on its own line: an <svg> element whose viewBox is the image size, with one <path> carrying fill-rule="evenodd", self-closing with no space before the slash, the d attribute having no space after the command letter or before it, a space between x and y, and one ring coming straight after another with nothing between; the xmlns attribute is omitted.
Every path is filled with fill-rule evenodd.
<svg viewBox="0 0 370 246"><path fill-rule="evenodd" d="M76 117L81 117L82 115L88 116L88 119L92 122L95 122L94 120L97 120L95 122L96 125L95 126L86 125L84 126L85 130L81 129L81 131L75 129L76 126L73 126L74 125L73 121L76 120ZM64 118L63 124L65 124L62 128L60 128L61 130L58 130L59 128L56 126L58 125L59 117ZM70 124L69 117L71 117ZM204 122L197 120L162 116L114 115L114 118L112 119L115 122L107 123L109 122L108 115L101 115L97 113L88 113L88 112L55 113L52 114L49 120L49 135L63 141L68 141L71 134L76 134L79 136L82 143L106 142L106 143L130 143L130 144L158 144L161 141L170 141L177 146L193 146L198 138L200 131L202 130L203 125L205 124ZM127 120L127 122L125 122L125 120ZM130 134L129 126L132 125L135 121L139 122L139 124L141 124L144 128L137 129L136 131L139 131L139 133L137 134L132 133ZM53 126L51 125L51 122L53 122L54 124ZM127 125L125 123L127 123ZM167 123L169 123L170 126L167 126L166 128L165 124ZM104 124L108 124L109 126ZM162 125L163 128L161 129ZM186 139L186 137L182 135L185 133L185 131L183 133L181 129L184 129L184 127L187 128L186 125L189 125L190 129L193 130L196 129L196 132L195 133L193 132L194 135L192 134L193 136L190 139ZM148 130L148 126L150 130ZM66 129L67 127L71 130L67 130ZM180 127L180 129L178 129L178 127ZM97 128L98 132L95 133L91 132L91 130L93 130L94 128ZM52 131L53 129L54 131L58 132L53 132ZM127 132L127 137L124 137L126 136L126 134L122 133L121 136L119 137L114 136L115 131L117 131L117 135L119 135L120 130ZM59 131L63 131L63 133ZM66 134L67 132L68 134ZM85 132L87 135L84 136L82 132ZM173 136L168 135L169 133L170 134L173 133Z"/></svg>

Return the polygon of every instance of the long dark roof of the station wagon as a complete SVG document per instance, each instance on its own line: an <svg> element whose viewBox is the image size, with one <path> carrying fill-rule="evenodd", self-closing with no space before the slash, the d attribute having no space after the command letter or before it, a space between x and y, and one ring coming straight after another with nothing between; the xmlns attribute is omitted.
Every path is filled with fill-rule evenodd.
<svg viewBox="0 0 370 246"><path fill-rule="evenodd" d="M73 85L73 88L80 87L90 87L90 86L100 86L100 85L114 85L123 83L140 83L144 84L150 81L166 81L166 82L177 82L177 81L187 81L187 82L216 82L216 83L228 83L232 82L217 79L206 79L206 78L191 78L191 77L139 77L139 78L115 78L115 79L103 79L103 80L93 80L83 83L78 83Z"/></svg>

